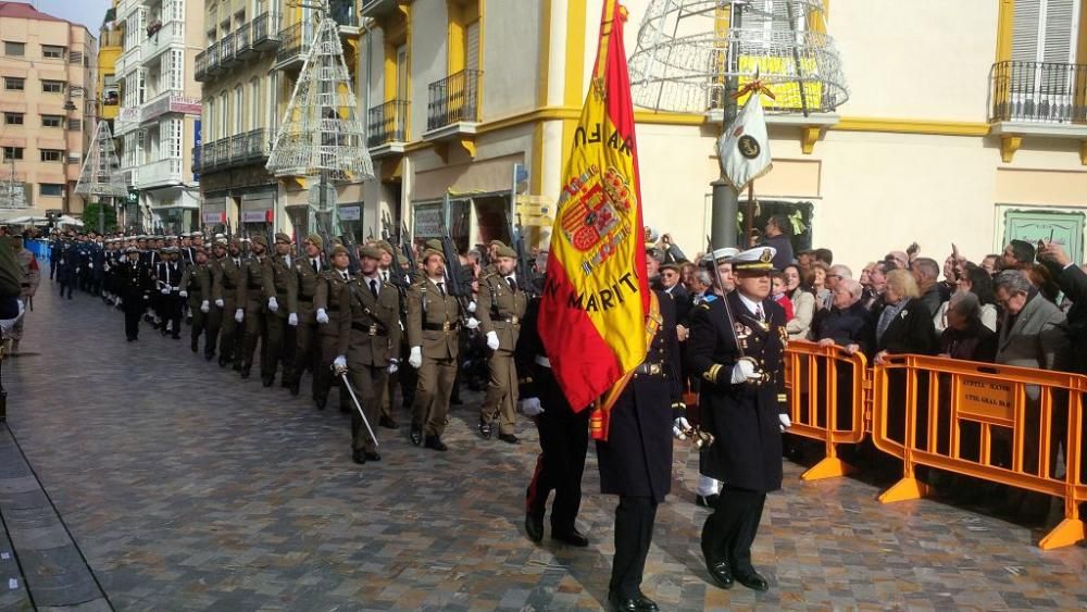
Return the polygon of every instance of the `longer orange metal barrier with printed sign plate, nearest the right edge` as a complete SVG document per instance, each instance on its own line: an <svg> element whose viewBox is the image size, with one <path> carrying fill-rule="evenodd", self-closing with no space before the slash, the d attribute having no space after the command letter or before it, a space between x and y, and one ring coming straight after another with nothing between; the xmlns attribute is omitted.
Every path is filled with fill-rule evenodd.
<svg viewBox="0 0 1087 612"><path fill-rule="evenodd" d="M882 502L925 495L915 467L927 465L1063 497L1064 521L1038 546L1084 539L1087 376L922 355L890 357L871 375L872 440L903 464Z"/></svg>

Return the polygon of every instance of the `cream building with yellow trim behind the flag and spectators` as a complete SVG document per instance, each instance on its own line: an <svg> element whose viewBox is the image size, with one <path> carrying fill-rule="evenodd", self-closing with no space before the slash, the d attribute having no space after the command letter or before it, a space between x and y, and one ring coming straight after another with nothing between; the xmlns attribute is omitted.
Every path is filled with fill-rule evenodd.
<svg viewBox="0 0 1087 612"><path fill-rule="evenodd" d="M624 5L633 54L651 0ZM1083 261L1082 0L822 8L850 98L833 112L770 115L774 170L755 185L755 227L787 214L800 246L858 266L913 240L933 257L954 241L980 259L1051 232ZM600 11L601 0L364 2L360 96L378 175L365 223L388 210L418 236L450 228L463 245L505 238L513 214L546 241ZM637 109L636 121L646 223L703 249L721 110L708 96L704 111Z"/></svg>

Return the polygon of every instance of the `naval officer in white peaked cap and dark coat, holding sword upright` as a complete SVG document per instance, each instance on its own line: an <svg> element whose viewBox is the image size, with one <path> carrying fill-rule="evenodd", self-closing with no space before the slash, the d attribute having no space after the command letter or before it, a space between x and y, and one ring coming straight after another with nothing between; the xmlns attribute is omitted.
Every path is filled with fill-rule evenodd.
<svg viewBox="0 0 1087 612"><path fill-rule="evenodd" d="M716 437L703 471L725 483L702 527L702 553L714 583L766 590L751 564L751 544L766 494L782 487L786 414L785 311L769 299L774 250L757 247L733 260L736 291L691 314L687 364L702 378L702 427ZM727 308L726 308L727 302Z"/></svg>

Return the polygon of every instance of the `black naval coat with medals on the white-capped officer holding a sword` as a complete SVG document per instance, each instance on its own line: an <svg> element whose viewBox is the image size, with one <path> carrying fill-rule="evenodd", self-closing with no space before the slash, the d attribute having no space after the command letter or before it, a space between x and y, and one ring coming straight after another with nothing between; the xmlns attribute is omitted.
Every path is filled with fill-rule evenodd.
<svg viewBox="0 0 1087 612"><path fill-rule="evenodd" d="M785 310L773 300L763 300L766 322L761 323L738 293L733 291L725 299L737 335L746 344L744 354L760 363L771 379L762 385L733 385L733 366L740 352L728 328L724 302L716 299L692 310L687 367L701 380L702 428L716 438L703 452L701 471L726 486L774 491L782 488L779 415L788 412L783 362L788 338Z"/></svg>

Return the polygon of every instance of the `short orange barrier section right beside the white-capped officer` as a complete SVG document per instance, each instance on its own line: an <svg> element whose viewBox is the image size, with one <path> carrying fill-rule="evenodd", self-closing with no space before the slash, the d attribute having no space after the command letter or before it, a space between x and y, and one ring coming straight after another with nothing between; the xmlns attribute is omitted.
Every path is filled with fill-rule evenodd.
<svg viewBox="0 0 1087 612"><path fill-rule="evenodd" d="M790 340L785 351L789 433L822 441L826 457L803 473L805 480L845 476L853 467L838 445L855 445L867 432L867 360L841 347Z"/></svg>

